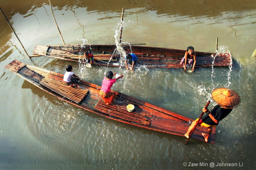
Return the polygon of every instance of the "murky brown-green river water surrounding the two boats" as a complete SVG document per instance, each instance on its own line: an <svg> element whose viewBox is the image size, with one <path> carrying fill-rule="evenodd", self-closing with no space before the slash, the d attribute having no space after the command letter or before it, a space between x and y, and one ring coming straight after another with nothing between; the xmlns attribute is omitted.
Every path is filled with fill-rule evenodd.
<svg viewBox="0 0 256 170"><path fill-rule="evenodd" d="M0 169L254 169L256 3L253 0L52 0L66 44L115 44L124 8L123 44L230 51L232 67L148 69L93 66L44 56L29 60L0 15ZM29 55L37 44L62 45L47 0L0 0ZM40 90L4 66L12 60L101 85L104 73L124 74L113 90L196 119L215 88L241 104L216 129L214 145L142 129L86 112ZM193 166L192 166L193 165ZM213 167L213 168L212 168Z"/></svg>

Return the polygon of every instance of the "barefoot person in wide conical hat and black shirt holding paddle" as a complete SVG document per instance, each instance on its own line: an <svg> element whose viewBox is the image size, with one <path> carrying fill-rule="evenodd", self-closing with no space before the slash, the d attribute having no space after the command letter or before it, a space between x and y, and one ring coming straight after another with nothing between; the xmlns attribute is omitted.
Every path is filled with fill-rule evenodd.
<svg viewBox="0 0 256 170"><path fill-rule="evenodd" d="M212 127L216 127L219 122L224 119L233 108L239 106L240 96L233 90L227 88L218 88L212 91L212 99L217 103L211 111L203 108L203 112L207 115L203 116L198 125L208 128L206 133L202 133L204 140L208 142L208 138L212 133ZM195 128L198 119L192 122L185 136L189 138L190 132Z"/></svg>

